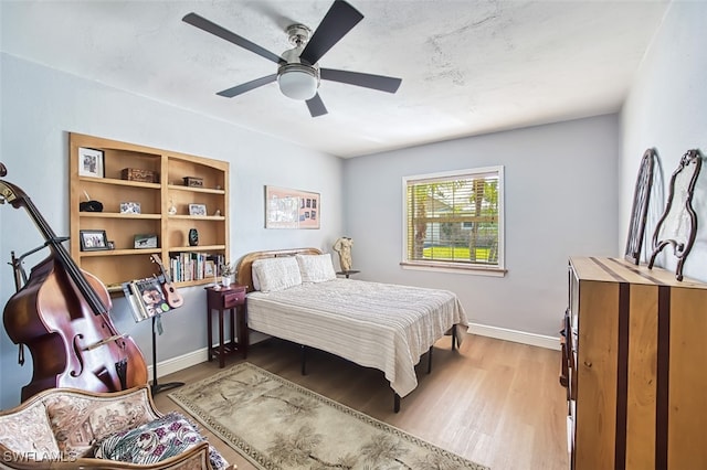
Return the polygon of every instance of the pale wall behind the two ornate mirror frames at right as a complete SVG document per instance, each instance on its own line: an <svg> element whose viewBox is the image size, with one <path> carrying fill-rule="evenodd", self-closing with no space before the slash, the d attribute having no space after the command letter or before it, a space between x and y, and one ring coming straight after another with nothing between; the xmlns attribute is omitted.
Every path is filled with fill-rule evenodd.
<svg viewBox="0 0 707 470"><path fill-rule="evenodd" d="M621 119L621 247L625 244L633 189L643 152L655 148L662 171L646 227L648 238L653 236L655 223L665 207L669 178L680 157L689 149L699 149L704 156L707 154L706 19L707 2L677 1L671 4L624 105ZM685 276L701 281L707 281L706 163L703 159L693 200L698 218L697 238L683 271ZM657 261L658 266L675 270L675 257L669 247L662 252Z"/></svg>

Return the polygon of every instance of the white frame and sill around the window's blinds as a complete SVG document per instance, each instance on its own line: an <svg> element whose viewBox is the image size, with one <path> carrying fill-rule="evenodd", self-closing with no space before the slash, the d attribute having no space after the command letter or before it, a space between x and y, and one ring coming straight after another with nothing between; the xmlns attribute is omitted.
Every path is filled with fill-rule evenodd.
<svg viewBox="0 0 707 470"><path fill-rule="evenodd" d="M474 175L498 174L498 265L489 266L473 263L454 263L443 260L409 259L408 253L408 186L425 181L455 181L471 180ZM471 274L482 276L503 277L507 273L505 254L505 172L504 165L479 167L464 170L451 170L435 173L414 174L402 177L402 253L400 266L403 269L419 269L430 271Z"/></svg>

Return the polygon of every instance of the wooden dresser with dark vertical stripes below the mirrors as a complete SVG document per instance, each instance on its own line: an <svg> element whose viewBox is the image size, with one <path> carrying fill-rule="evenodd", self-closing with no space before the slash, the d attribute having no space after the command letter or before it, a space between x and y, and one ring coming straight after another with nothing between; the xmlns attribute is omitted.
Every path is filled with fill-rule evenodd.
<svg viewBox="0 0 707 470"><path fill-rule="evenodd" d="M573 257L564 324L571 468L707 469L707 285Z"/></svg>

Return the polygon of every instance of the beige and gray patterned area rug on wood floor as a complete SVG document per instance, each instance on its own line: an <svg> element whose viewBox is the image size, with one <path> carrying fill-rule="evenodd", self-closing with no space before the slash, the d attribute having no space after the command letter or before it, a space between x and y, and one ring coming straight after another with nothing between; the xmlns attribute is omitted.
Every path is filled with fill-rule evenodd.
<svg viewBox="0 0 707 470"><path fill-rule="evenodd" d="M488 470L247 362L169 397L258 469Z"/></svg>

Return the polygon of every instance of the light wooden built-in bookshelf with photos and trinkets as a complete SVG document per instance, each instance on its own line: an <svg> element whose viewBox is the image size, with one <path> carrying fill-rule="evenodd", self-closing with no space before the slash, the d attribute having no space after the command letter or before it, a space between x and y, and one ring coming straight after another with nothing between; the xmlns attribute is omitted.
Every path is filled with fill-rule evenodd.
<svg viewBox="0 0 707 470"><path fill-rule="evenodd" d="M199 253L229 259L229 163L169 150L70 133L71 255L83 270L103 281L110 292L122 284L159 274L150 255L165 266L180 253ZM103 152L103 177L80 175L80 150ZM124 169L152 172L155 182L128 181ZM198 178L202 186L188 186L184 178ZM102 212L82 212L81 202L103 204ZM137 202L140 214L120 213L120 203ZM189 215L190 204L203 204L207 215ZM175 214L169 214L170 207ZM197 228L199 244L190 246L188 232ZM81 231L106 231L114 249L81 249ZM157 235L156 248L135 248L135 235ZM213 281L177 282L179 287Z"/></svg>

